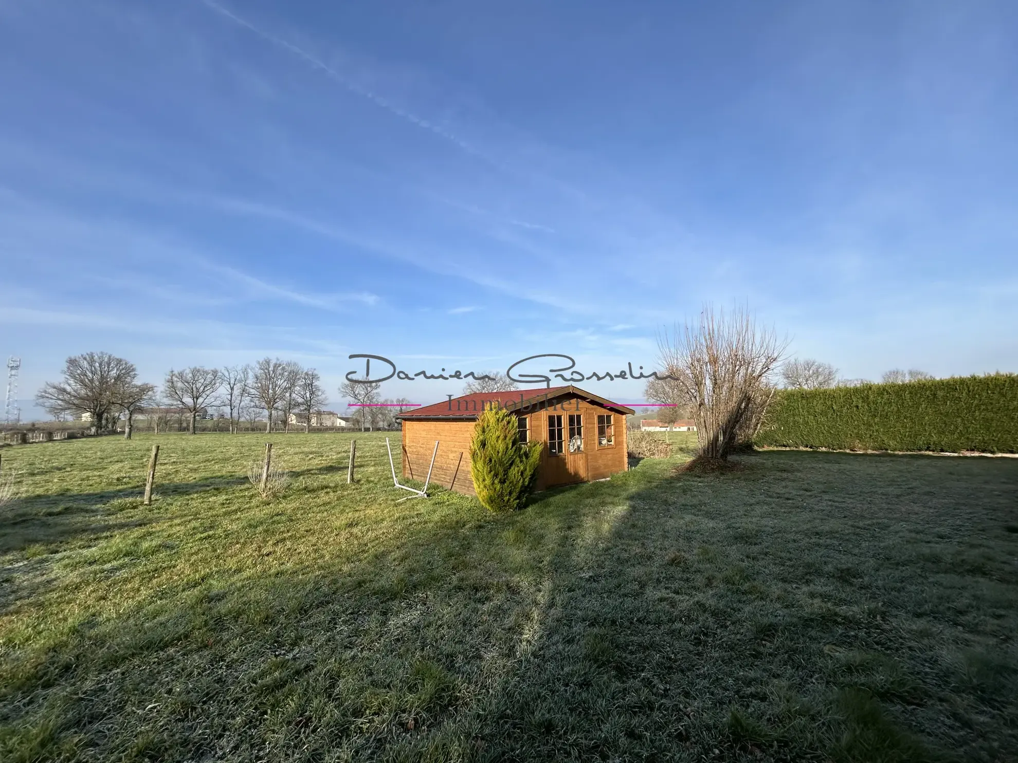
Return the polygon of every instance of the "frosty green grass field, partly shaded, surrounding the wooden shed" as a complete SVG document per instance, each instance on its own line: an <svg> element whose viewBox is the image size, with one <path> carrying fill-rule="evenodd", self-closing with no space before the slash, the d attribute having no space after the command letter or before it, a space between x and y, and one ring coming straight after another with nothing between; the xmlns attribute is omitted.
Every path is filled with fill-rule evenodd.
<svg viewBox="0 0 1018 763"><path fill-rule="evenodd" d="M1018 759L1018 462L684 457L492 515L384 435L2 451L0 760Z"/></svg>

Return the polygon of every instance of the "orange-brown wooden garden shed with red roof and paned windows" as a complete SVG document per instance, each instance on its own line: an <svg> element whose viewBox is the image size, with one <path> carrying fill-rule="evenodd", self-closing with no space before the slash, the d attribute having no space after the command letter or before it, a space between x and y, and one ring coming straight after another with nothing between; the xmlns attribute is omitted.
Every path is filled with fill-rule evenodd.
<svg viewBox="0 0 1018 763"><path fill-rule="evenodd" d="M477 415L497 406L513 413L520 442L544 444L538 489L625 471L626 416L633 410L577 387L475 393L399 414L403 476L423 480L439 441L432 482L474 494L470 441Z"/></svg>

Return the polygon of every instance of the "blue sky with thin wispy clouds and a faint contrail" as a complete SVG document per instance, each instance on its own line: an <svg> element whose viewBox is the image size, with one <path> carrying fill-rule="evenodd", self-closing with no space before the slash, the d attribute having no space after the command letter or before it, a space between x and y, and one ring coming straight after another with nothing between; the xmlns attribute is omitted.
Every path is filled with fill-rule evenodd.
<svg viewBox="0 0 1018 763"><path fill-rule="evenodd" d="M1010 2L0 0L0 353L1018 370ZM591 384L637 400L638 384ZM428 403L454 385L387 385Z"/></svg>

